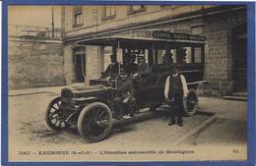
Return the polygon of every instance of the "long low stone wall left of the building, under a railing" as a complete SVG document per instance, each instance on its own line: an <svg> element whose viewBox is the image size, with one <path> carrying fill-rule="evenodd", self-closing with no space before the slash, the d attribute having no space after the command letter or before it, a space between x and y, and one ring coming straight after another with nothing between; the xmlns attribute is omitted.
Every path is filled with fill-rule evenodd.
<svg viewBox="0 0 256 166"><path fill-rule="evenodd" d="M65 84L61 40L8 38L9 88Z"/></svg>

